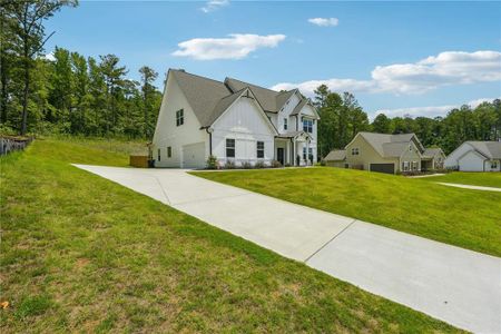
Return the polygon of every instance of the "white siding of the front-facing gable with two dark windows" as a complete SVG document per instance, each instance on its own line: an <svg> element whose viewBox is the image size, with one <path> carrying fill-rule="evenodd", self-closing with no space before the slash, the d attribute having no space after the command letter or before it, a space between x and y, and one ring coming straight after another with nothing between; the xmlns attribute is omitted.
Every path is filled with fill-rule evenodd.
<svg viewBox="0 0 501 334"><path fill-rule="evenodd" d="M226 163L226 139L235 139L236 165L274 159L274 130L255 100L240 97L213 125L213 155L219 164ZM265 156L257 159L257 141L264 141Z"/></svg>

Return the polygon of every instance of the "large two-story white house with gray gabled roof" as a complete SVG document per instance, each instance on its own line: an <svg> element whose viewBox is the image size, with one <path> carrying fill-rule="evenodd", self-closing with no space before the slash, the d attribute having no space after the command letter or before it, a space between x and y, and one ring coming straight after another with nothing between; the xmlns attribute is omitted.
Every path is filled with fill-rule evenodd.
<svg viewBox="0 0 501 334"><path fill-rule="evenodd" d="M318 114L297 89L275 91L169 69L153 139L156 167L316 161Z"/></svg>

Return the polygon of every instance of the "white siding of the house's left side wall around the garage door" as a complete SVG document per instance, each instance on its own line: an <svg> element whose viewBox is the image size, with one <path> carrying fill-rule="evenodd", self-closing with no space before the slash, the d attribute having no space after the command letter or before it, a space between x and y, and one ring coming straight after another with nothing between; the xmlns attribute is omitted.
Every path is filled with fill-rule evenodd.
<svg viewBox="0 0 501 334"><path fill-rule="evenodd" d="M176 111L184 109L184 125L176 126ZM156 167L183 167L183 146L204 143L204 157L208 156L208 134L200 130L200 124L188 105L176 80L169 76L158 115L157 126L153 139L153 153ZM173 148L173 156L167 158L167 147ZM160 161L157 153L160 149ZM205 164L204 164L205 165ZM193 167L204 167L193 166Z"/></svg>

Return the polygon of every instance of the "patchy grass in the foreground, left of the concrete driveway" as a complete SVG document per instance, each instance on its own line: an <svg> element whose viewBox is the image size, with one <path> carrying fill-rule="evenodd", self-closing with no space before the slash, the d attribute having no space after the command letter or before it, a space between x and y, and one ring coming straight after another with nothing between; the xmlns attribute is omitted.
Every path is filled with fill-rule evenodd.
<svg viewBox="0 0 501 334"><path fill-rule="evenodd" d="M127 156L38 140L0 159L2 333L458 332L70 161Z"/></svg>

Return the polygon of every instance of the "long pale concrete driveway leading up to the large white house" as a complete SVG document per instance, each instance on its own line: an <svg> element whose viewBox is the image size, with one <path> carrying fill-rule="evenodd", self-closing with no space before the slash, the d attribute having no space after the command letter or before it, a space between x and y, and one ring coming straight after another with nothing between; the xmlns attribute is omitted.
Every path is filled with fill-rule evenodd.
<svg viewBox="0 0 501 334"><path fill-rule="evenodd" d="M499 257L217 184L186 170L75 166L458 327L501 333Z"/></svg>

